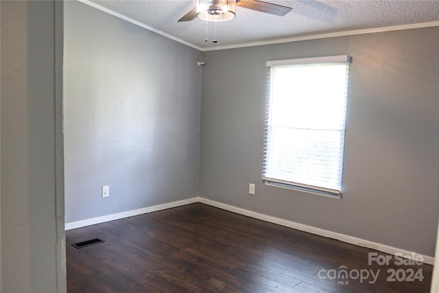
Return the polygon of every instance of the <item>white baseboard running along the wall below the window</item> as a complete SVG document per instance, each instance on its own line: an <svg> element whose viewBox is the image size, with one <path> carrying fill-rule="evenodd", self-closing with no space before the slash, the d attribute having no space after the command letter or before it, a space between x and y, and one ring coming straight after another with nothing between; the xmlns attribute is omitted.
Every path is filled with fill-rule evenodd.
<svg viewBox="0 0 439 293"><path fill-rule="evenodd" d="M280 218L275 218L275 217L272 217L270 215L264 215L263 213L256 213L254 211L248 211L246 209L233 207L231 205L223 204L221 202L215 202L214 200L208 200L206 198L199 197L199 198L197 198L197 201L202 202L204 204L209 204L209 205L211 205L213 207L217 207L219 209L225 209L226 211L232 211L233 213L247 215L248 217L263 220L265 222L270 222L270 223L278 224L281 226L287 226L289 228L294 228L296 230L305 231L305 232L308 232L311 234L316 234L316 235L328 237L331 239L340 240L342 242L346 242L349 244L355 244L357 246L371 248L374 250L381 251L383 253L388 253L390 255L396 255L396 253L401 253L402 256L406 257L407 259L413 259L414 257L415 258L416 257L423 257L424 263L428 263L431 265L434 263L434 257L429 257L427 255L420 255L419 253L414 253L412 251L403 250L400 248L396 248L396 247L392 247L392 246L388 246L388 245L384 245L384 244L379 244L377 242L371 242L371 241L368 241L365 239L361 239L361 238L357 238L357 237L353 237L353 236L348 236L348 235L344 235L341 233L335 233L332 231L327 231L327 230L324 230L321 228L307 226L304 224L300 224L300 223L296 223L296 222L292 222L292 221L287 221L287 220L283 220ZM419 259L413 259L413 260L418 261Z"/></svg>

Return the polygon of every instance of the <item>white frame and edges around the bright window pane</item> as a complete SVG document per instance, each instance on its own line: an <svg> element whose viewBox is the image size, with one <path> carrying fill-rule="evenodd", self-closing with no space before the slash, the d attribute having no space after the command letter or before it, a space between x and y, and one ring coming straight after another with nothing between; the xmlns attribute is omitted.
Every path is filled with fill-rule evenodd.
<svg viewBox="0 0 439 293"><path fill-rule="evenodd" d="M273 85L273 70L275 68L279 67L291 67L294 65L327 65L327 64L343 64L346 65L346 95L344 97L345 99L345 108L344 108L344 125L342 128L342 134L343 134L343 145L340 150L342 150L342 159L341 159L341 172L337 172L337 174L340 173L340 190L338 189L332 189L327 187L319 187L315 185L307 185L304 183L298 183L298 182L292 182L289 180L283 180L281 178L270 178L268 176L265 176L267 174L267 168L268 168L268 156L270 155L268 150L268 141L269 141L269 132L270 132L270 113L272 110L272 85ZM318 194L321 196L329 196L332 198L342 198L342 178L343 178L343 169L344 169L344 149L345 149L345 137L346 137L346 116L347 116L347 99L348 99L348 78L349 78L349 65L351 63L351 56L348 55L337 55L337 56L324 56L324 57L316 57L316 58L296 58L296 59L288 59L288 60L272 60L267 62L267 67L269 71L269 89L268 91L268 104L267 104L267 112L266 112L266 119L265 119L265 141L264 141L264 162L263 162L263 176L262 180L265 185L271 185L276 187L282 187L287 189L294 189L296 191L302 191L310 194Z"/></svg>

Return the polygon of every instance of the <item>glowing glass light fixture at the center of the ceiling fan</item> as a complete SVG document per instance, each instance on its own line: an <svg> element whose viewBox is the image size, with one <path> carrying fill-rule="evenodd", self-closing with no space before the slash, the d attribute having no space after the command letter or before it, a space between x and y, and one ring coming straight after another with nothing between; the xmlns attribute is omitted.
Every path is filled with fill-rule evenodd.
<svg viewBox="0 0 439 293"><path fill-rule="evenodd" d="M203 21L229 21L235 14L236 0L197 0L197 17Z"/></svg>

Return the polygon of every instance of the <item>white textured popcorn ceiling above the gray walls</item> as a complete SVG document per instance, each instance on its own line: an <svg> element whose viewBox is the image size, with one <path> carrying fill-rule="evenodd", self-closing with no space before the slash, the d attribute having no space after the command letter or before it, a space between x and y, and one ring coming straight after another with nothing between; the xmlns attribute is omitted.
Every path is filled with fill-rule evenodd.
<svg viewBox="0 0 439 293"><path fill-rule="evenodd" d="M215 23L209 23L208 42L205 41L206 21L194 19L178 23L178 19L195 8L196 0L83 0L83 2L126 16L198 49L233 47L397 25L429 22L439 25L439 0L265 0L265 2L291 7L292 11L285 16L274 16L237 7L235 19L217 23L218 43L215 44L213 43Z"/></svg>

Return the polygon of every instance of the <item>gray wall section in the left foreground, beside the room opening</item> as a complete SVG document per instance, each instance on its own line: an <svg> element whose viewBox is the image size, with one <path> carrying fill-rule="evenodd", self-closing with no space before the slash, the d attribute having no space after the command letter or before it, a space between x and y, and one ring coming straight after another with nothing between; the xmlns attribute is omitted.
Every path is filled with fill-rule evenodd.
<svg viewBox="0 0 439 293"><path fill-rule="evenodd" d="M0 291L65 292L62 2L0 5Z"/></svg>

